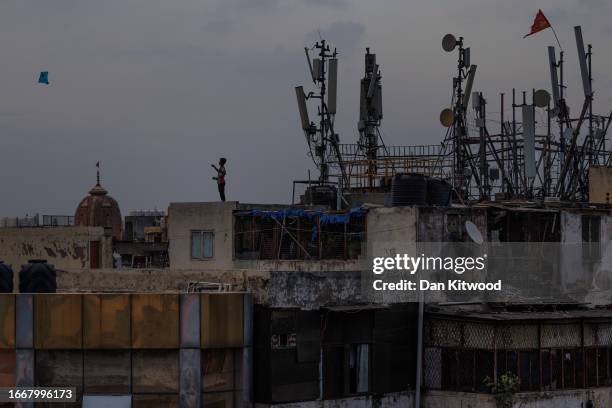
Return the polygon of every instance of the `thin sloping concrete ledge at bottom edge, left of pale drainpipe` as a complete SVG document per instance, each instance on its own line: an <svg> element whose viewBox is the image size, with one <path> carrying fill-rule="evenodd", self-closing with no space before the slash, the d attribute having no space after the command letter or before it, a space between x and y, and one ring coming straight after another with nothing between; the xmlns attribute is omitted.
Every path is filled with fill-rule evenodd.
<svg viewBox="0 0 612 408"><path fill-rule="evenodd" d="M335 400L304 401L288 404L255 404L255 408L395 408L414 406L414 393L398 392L384 396L365 396ZM454 405L460 407L461 405Z"/></svg>

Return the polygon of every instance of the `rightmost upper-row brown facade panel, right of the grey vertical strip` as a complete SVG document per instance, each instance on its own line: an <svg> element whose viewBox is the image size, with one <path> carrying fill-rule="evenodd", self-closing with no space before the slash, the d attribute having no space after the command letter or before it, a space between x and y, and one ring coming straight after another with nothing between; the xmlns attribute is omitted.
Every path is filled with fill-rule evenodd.
<svg viewBox="0 0 612 408"><path fill-rule="evenodd" d="M244 302L240 293L202 294L202 348L244 345Z"/></svg>

